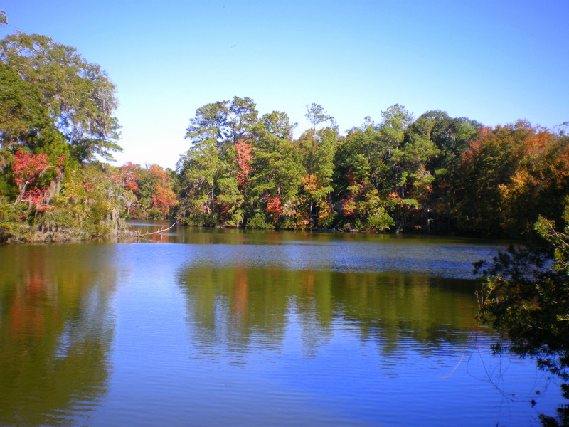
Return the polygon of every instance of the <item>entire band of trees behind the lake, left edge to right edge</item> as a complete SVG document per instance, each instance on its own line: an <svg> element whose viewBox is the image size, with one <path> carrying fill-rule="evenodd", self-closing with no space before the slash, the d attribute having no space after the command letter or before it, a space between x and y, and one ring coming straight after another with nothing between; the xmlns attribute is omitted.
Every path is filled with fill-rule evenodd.
<svg viewBox="0 0 569 427"><path fill-rule="evenodd" d="M287 113L234 97L196 110L165 171L107 163L120 150L115 86L75 48L7 36L0 88L0 242L119 235L127 218L519 237L540 214L560 220L569 194L565 126L393 105L341 135L312 104L295 139Z"/></svg>

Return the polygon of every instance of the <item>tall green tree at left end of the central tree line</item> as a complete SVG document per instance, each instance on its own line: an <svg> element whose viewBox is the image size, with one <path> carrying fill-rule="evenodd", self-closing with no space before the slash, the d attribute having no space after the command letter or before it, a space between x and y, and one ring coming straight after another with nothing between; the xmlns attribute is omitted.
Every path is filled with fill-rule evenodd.
<svg viewBox="0 0 569 427"><path fill-rule="evenodd" d="M204 105L190 120L186 138L191 147L178 165L181 216L191 223L238 226L245 216L243 180L257 121L255 102L234 97Z"/></svg>

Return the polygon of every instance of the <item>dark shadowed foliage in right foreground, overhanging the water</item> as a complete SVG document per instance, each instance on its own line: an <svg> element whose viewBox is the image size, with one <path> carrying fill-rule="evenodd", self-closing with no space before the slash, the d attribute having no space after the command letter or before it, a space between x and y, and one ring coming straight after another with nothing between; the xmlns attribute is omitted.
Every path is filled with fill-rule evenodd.
<svg viewBox="0 0 569 427"><path fill-rule="evenodd" d="M490 263L478 263L480 316L509 340L496 352L533 357L538 367L563 381L569 399L569 199L563 231L540 216L536 238L509 248ZM541 415L544 426L569 426L569 405L558 416Z"/></svg>

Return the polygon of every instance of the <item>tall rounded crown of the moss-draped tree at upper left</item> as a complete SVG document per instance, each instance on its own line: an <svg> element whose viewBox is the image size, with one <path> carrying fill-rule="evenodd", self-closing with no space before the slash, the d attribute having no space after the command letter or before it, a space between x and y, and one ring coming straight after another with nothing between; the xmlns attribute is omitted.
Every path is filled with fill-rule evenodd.
<svg viewBox="0 0 569 427"><path fill-rule="evenodd" d="M0 61L38 88L55 127L80 162L119 151L115 85L99 65L47 36L17 32L0 41Z"/></svg>

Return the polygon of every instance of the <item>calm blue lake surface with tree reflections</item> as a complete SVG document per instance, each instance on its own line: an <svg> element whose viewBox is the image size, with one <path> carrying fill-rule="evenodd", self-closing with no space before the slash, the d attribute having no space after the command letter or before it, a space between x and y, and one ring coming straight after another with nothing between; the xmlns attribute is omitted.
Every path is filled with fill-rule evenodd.
<svg viewBox="0 0 569 427"><path fill-rule="evenodd" d="M0 426L536 426L562 401L474 320L503 243L151 237L0 247Z"/></svg>

